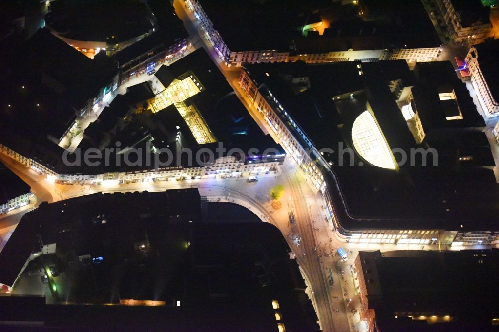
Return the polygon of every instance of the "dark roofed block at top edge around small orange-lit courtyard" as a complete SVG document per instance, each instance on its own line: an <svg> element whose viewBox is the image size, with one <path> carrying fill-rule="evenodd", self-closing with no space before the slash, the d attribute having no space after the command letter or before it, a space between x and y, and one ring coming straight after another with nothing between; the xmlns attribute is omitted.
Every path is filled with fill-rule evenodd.
<svg viewBox="0 0 499 332"><path fill-rule="evenodd" d="M440 45L435 28L419 0L406 0L404 6L398 5L396 0L382 1L390 10L385 12L383 19L378 17L370 22L359 18L359 6L323 0L237 0L224 3L224 6L209 0L199 2L214 29L233 52L325 53L350 48L369 50ZM378 2L368 5L374 9ZM268 15L268 12L278 12L279 15ZM317 17L322 19L324 26L331 24L330 28L326 28L320 37L318 31L309 31L305 37L302 27L312 20L317 21Z"/></svg>

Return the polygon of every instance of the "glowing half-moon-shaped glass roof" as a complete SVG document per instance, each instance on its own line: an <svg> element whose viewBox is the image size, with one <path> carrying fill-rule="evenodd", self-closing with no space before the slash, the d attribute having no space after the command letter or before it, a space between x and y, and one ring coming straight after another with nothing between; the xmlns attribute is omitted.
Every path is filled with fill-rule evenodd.
<svg viewBox="0 0 499 332"><path fill-rule="evenodd" d="M364 111L353 122L352 140L357 153L370 164L395 169L390 147L369 111Z"/></svg>

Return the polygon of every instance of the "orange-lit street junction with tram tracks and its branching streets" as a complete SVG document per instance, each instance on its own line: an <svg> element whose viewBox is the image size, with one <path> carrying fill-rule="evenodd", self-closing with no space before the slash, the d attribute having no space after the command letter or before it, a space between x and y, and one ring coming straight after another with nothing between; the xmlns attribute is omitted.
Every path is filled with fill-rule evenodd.
<svg viewBox="0 0 499 332"><path fill-rule="evenodd" d="M201 31L191 12L185 10L182 0L175 0L177 15L184 21L194 48L203 47L219 66L236 95L246 106L262 131L272 135L265 120L240 90L239 68L229 68L223 64ZM278 140L274 137L276 142ZM0 161L31 186L35 194L32 203L16 213L0 217L2 229L11 229L22 215L39 203L49 203L82 195L103 192L164 191L180 188L197 188L208 201L232 202L245 206L262 221L275 225L289 244L291 257L300 266L307 283L307 294L316 310L320 328L323 331L364 331L358 311L359 297L356 277L352 264L358 250L421 250L420 245L362 244L348 243L331 227L328 219L331 215L323 207L326 201L322 194L311 186L306 175L291 158L287 158L278 172L260 175L256 183L248 183L249 174L239 178L205 178L182 181L155 181L142 183L124 183L112 185L62 185L54 183L37 172L26 168L17 161L0 154ZM269 196L270 188L282 184L285 192L281 198L282 207L275 209ZM290 218L292 215L292 219ZM346 262L341 261L335 250L343 247L348 251ZM485 246L481 247L485 248ZM439 250L438 246L424 246L425 250ZM462 249L462 248L450 248ZM467 248L475 249L475 248ZM341 272L343 271L343 273ZM330 274L331 273L331 274ZM332 284L330 282L332 276ZM351 299L351 302L350 302Z"/></svg>

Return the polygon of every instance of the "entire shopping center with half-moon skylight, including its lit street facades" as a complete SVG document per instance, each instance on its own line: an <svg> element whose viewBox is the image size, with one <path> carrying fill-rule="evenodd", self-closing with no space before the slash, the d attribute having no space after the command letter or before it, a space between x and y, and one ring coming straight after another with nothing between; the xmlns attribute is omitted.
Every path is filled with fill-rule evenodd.
<svg viewBox="0 0 499 332"><path fill-rule="evenodd" d="M450 63L418 65L413 72L401 60L248 64L239 84L324 194L331 226L345 240L497 243L487 197L498 188L484 122ZM466 204L471 191L483 195L476 209Z"/></svg>

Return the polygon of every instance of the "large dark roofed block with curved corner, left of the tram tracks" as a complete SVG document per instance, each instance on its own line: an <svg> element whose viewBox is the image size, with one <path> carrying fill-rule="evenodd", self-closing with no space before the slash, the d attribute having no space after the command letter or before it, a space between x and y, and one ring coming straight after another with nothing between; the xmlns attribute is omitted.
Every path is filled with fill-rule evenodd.
<svg viewBox="0 0 499 332"><path fill-rule="evenodd" d="M134 208L130 208L132 201ZM61 274L71 283L67 296L62 294L64 289L59 291L61 297L71 303L116 304L133 298L164 300L166 305L47 307L41 301L29 304L27 299L13 296L8 305L12 310L4 308L6 303L0 299L4 308L0 320L41 320L46 327L64 329L102 328L111 321L115 327L130 328L147 320L149 327L176 331L199 331L207 326L275 331L272 300L276 299L286 329L318 331L316 315L303 291L303 278L296 261L289 258L289 247L279 230L241 206L228 205L202 207L196 189L98 193L42 204L26 214L19 227L37 225L45 243L57 242L57 254L65 266ZM206 222L202 214L206 214ZM232 223L232 215L245 221ZM261 237L262 233L266 236ZM17 250L25 248L16 245ZM102 262L91 263L90 259L84 263L78 258L84 254L102 257ZM3 266L9 268L0 275L12 271L16 276L20 269ZM97 292L92 280L99 285ZM13 292L22 293L15 287ZM75 313L81 311L86 318L80 320L82 316ZM89 316L93 319L88 320Z"/></svg>

